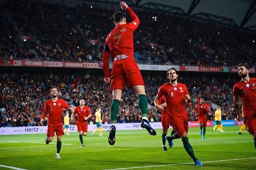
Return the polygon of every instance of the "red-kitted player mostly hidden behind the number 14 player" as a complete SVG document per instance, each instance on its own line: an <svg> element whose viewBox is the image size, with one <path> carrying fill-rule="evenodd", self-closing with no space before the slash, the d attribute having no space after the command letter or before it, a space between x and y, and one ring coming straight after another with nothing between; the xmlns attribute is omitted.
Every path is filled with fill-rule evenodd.
<svg viewBox="0 0 256 170"><path fill-rule="evenodd" d="M166 107L166 100L164 95L158 100L158 104ZM162 143L163 143L163 151L167 151L166 145L165 145L165 136L167 135L168 132L168 128L171 126L171 120L170 120L170 114L168 113L168 111L165 109L161 112L161 123L162 123L162 129L163 129L163 134L162 134ZM171 135L173 135L175 133L175 131L171 131ZM169 145L169 147L173 147L173 142L171 143L171 145Z"/></svg>

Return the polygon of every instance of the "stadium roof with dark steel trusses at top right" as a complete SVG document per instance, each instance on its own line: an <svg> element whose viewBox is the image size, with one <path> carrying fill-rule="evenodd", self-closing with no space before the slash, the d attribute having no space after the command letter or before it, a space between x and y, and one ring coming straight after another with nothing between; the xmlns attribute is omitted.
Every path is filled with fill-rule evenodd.
<svg viewBox="0 0 256 170"><path fill-rule="evenodd" d="M119 4L120 0L85 0ZM256 31L256 0L125 0L129 6L168 12Z"/></svg>

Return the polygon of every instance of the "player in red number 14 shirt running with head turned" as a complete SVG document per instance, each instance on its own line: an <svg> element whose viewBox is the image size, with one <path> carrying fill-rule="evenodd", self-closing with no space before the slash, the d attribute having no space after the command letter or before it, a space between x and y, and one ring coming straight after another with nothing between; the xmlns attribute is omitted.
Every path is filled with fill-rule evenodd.
<svg viewBox="0 0 256 170"><path fill-rule="evenodd" d="M176 131L171 136L165 136L165 139L171 145L174 139L179 139L183 142L183 146L189 156L194 160L196 166L202 166L203 164L196 158L193 148L187 138L187 131L189 130L189 118L187 116L186 102L191 102L191 98L185 84L178 83L178 71L175 68L167 70L167 77L170 82L163 84L154 100L156 108L160 111L168 110L170 113L171 125ZM159 105L159 99L164 95L166 99L166 108Z"/></svg>

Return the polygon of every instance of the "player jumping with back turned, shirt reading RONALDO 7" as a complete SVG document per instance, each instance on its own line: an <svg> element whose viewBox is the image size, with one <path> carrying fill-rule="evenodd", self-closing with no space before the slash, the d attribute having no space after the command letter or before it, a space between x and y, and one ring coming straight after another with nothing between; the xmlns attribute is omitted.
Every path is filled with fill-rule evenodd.
<svg viewBox="0 0 256 170"><path fill-rule="evenodd" d="M110 145L115 144L115 122L119 113L122 91L126 85L132 87L138 95L138 105L142 113L141 127L146 128L149 134L156 135L156 131L148 122L148 105L144 82L134 59L133 32L138 28L140 20L125 2L121 1L120 6L129 13L132 22L126 23L126 15L123 12L114 14L115 28L106 38L102 56L105 83L110 82L109 55L113 61L110 85L110 89L113 91L113 100L110 106L111 126L108 137Z"/></svg>

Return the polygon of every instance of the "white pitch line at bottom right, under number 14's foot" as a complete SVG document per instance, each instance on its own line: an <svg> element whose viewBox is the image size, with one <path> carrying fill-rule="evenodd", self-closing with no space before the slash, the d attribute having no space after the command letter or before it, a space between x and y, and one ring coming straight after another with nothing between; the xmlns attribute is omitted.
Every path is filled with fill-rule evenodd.
<svg viewBox="0 0 256 170"><path fill-rule="evenodd" d="M201 162L201 163L225 162L225 161L244 160L244 159L256 159L256 157L254 157L254 158L240 158L240 159L213 160L213 161L205 161L205 162ZM167 165L152 165L152 166L135 166L135 167L129 167L129 168L116 168L116 169L103 169L103 170L122 170L122 169L137 169L137 168L154 168L154 167L161 167L161 166L188 165L188 164L195 164L195 163L167 164Z"/></svg>

